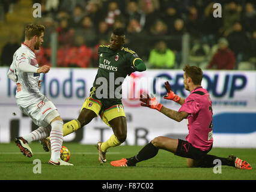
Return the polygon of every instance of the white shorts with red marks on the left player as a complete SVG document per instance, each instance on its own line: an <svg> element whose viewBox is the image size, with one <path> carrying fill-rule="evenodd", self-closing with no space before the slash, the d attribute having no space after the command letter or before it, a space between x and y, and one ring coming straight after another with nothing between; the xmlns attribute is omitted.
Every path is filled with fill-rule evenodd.
<svg viewBox="0 0 256 192"><path fill-rule="evenodd" d="M54 106L52 101L48 100L47 97L44 97L44 100L40 101L39 103L31 104L28 107L19 107L20 110L22 110L25 115L28 115L32 119L34 124L39 127L46 127L47 125L49 125L52 119L56 118L56 116L59 116L56 107ZM48 116L47 121L44 121L46 120L45 118L49 113L51 113L49 115L50 117Z"/></svg>

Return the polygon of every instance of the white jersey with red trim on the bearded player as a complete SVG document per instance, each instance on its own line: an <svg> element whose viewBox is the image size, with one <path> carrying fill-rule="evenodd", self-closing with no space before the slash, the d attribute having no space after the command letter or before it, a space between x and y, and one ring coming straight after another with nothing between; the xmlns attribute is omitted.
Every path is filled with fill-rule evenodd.
<svg viewBox="0 0 256 192"><path fill-rule="evenodd" d="M16 102L19 106L28 107L44 98L38 86L40 74L37 73L37 69L38 63L34 51L22 44L14 53L10 67L17 83Z"/></svg>

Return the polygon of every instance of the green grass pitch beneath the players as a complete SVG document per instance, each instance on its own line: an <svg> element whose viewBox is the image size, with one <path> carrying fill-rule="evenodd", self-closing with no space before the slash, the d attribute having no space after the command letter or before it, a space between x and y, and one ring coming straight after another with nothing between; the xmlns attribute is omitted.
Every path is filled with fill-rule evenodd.
<svg viewBox="0 0 256 192"><path fill-rule="evenodd" d="M36 179L36 180L256 180L256 149L213 148L209 154L227 157L234 154L248 161L252 170L240 170L222 166L221 173L214 173L213 168L188 168L186 159L177 157L170 152L159 150L156 157L138 163L136 167L112 167L110 161L136 155L143 146L118 146L109 149L108 162L100 164L97 148L94 145L79 143L63 143L70 149L70 163L75 166L51 166L47 164L50 152L44 152L38 142L31 143L34 153L32 158L20 153L14 143L0 144L0 179ZM41 161L41 173L33 173Z"/></svg>

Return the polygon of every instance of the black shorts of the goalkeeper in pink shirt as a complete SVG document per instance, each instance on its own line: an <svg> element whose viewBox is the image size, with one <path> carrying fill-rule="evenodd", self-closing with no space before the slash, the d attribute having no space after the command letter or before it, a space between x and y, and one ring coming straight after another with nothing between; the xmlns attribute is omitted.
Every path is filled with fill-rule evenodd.
<svg viewBox="0 0 256 192"><path fill-rule="evenodd" d="M200 149L192 146L192 144L187 142L186 140L178 139L178 146L177 146L175 155L178 155L180 157L192 158L194 160L200 160L211 149L212 149L212 146L207 151L201 151Z"/></svg>

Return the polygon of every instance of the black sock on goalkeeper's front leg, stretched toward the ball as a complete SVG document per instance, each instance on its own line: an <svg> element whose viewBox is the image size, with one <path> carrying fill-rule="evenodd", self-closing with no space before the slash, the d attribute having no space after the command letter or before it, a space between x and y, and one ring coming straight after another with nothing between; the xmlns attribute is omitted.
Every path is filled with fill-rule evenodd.
<svg viewBox="0 0 256 192"><path fill-rule="evenodd" d="M153 158L156 156L158 152L158 148L156 148L151 142L144 146L144 148L139 151L138 155L127 158L127 166L135 166L136 163L139 163L140 161L145 161L150 158Z"/></svg>

